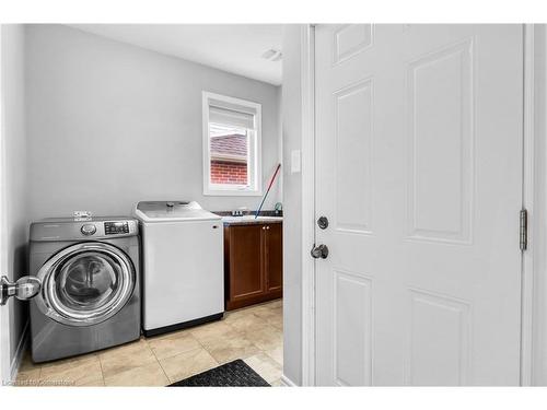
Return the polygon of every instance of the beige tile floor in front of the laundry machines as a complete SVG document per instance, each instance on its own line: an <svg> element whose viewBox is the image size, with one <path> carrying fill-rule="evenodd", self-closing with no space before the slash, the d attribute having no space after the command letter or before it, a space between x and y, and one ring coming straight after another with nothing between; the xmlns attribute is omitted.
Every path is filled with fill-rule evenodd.
<svg viewBox="0 0 547 410"><path fill-rule="evenodd" d="M228 312L222 320L100 352L33 364L23 359L20 386L166 386L243 359L266 382L280 385L282 301Z"/></svg>

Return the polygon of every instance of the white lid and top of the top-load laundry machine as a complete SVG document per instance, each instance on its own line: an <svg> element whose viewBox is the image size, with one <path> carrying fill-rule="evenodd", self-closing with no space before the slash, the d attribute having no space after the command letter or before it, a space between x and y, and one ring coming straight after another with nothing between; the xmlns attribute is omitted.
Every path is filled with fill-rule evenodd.
<svg viewBox="0 0 547 410"><path fill-rule="evenodd" d="M206 211L196 201L142 201L135 211L143 222L211 221L222 216Z"/></svg>

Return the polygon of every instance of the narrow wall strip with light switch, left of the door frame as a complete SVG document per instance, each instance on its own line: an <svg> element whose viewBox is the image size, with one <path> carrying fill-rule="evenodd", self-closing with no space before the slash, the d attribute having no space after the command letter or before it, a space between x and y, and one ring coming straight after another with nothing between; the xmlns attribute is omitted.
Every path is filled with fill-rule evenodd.
<svg viewBox="0 0 547 410"><path fill-rule="evenodd" d="M283 375L302 384L302 175L290 173L302 148L301 25L283 33Z"/></svg>

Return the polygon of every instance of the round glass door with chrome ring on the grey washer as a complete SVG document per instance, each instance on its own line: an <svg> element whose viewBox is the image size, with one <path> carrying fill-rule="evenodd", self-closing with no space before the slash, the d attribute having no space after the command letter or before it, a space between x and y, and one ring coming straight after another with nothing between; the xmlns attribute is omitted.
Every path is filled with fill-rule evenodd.
<svg viewBox="0 0 547 410"><path fill-rule="evenodd" d="M51 257L38 272L40 311L71 326L90 326L121 309L135 289L135 268L127 255L105 243L82 243Z"/></svg>

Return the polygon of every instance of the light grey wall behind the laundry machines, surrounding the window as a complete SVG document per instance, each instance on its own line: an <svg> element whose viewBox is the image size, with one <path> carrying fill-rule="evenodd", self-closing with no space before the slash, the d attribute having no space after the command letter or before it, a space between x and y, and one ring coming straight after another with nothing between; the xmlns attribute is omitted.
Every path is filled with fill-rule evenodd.
<svg viewBox="0 0 547 410"><path fill-rule="evenodd" d="M130 214L191 199L255 209L259 197L203 197L201 91L263 105L263 178L279 161L278 87L62 25L26 31L30 214ZM270 192L265 209L280 198Z"/></svg>

